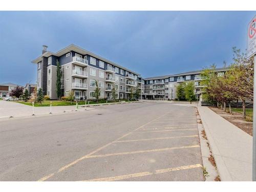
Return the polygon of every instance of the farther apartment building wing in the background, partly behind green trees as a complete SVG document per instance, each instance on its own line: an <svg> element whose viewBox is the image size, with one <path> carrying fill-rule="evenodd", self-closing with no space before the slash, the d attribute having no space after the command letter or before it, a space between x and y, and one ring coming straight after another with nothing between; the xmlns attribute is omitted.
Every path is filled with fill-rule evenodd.
<svg viewBox="0 0 256 192"><path fill-rule="evenodd" d="M218 68L216 72L222 75L228 68ZM201 73L199 71L190 71L174 75L165 75L158 77L145 78L144 98L158 100L174 100L176 98L176 87L178 83L192 81L195 84L195 95L197 99L202 100Z"/></svg>

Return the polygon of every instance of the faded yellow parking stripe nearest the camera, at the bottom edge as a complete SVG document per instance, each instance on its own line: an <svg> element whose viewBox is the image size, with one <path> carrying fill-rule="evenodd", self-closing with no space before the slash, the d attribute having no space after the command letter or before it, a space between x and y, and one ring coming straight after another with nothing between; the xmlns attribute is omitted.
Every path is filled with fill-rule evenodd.
<svg viewBox="0 0 256 192"><path fill-rule="evenodd" d="M155 171L155 173L141 172L141 173L135 173L135 174L129 174L129 175L105 177L105 178L98 178L98 179L89 179L89 180L83 180L83 181L117 181L117 180L130 179L130 178L135 178L135 177L143 177L143 176L155 175L155 174L162 174L162 173L168 173L168 172L174 172L174 171L178 171L178 170L185 170L185 169L198 168L198 167L202 167L202 165L201 164L186 165L186 166L179 166L179 167L173 167L173 168L158 169Z"/></svg>

